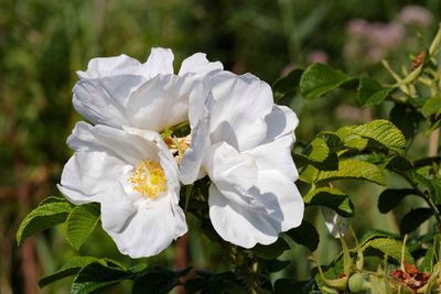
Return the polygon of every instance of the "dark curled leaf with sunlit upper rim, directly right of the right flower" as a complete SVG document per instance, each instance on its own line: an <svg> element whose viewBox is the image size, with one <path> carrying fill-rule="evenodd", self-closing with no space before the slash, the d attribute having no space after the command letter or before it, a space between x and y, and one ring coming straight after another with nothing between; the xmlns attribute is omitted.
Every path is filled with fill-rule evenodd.
<svg viewBox="0 0 441 294"><path fill-rule="evenodd" d="M306 205L320 205L333 209L343 217L352 217L354 215L354 205L349 197L335 188L321 187L312 189L303 198Z"/></svg>

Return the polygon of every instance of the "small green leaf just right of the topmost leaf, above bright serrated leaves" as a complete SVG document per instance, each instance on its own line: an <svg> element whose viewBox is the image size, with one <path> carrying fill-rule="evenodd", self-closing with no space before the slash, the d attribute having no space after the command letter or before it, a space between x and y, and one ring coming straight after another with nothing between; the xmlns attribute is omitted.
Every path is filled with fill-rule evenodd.
<svg viewBox="0 0 441 294"><path fill-rule="evenodd" d="M358 100L363 106L376 106L392 92L394 88L384 88L372 78L362 77L358 84Z"/></svg>

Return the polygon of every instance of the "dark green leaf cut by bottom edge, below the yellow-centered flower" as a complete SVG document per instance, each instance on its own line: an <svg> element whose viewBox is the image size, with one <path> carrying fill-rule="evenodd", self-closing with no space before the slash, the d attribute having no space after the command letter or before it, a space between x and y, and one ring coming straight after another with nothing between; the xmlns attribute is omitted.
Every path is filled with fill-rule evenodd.
<svg viewBox="0 0 441 294"><path fill-rule="evenodd" d="M72 283L71 294L103 292L130 277L130 272L112 264L115 263L99 260L84 266Z"/></svg>

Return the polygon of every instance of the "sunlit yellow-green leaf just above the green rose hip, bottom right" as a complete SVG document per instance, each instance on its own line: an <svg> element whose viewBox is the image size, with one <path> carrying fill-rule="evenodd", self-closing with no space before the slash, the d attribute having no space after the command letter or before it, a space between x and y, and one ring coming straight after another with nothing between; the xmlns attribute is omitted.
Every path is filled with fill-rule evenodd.
<svg viewBox="0 0 441 294"><path fill-rule="evenodd" d="M365 255L379 255L379 258L383 258L385 254L387 254L389 258L392 258L399 263L401 261L402 242L391 238L373 237L363 243L362 250L364 251ZM407 248L405 249L404 258L406 262L410 264L415 263L413 258Z"/></svg>

